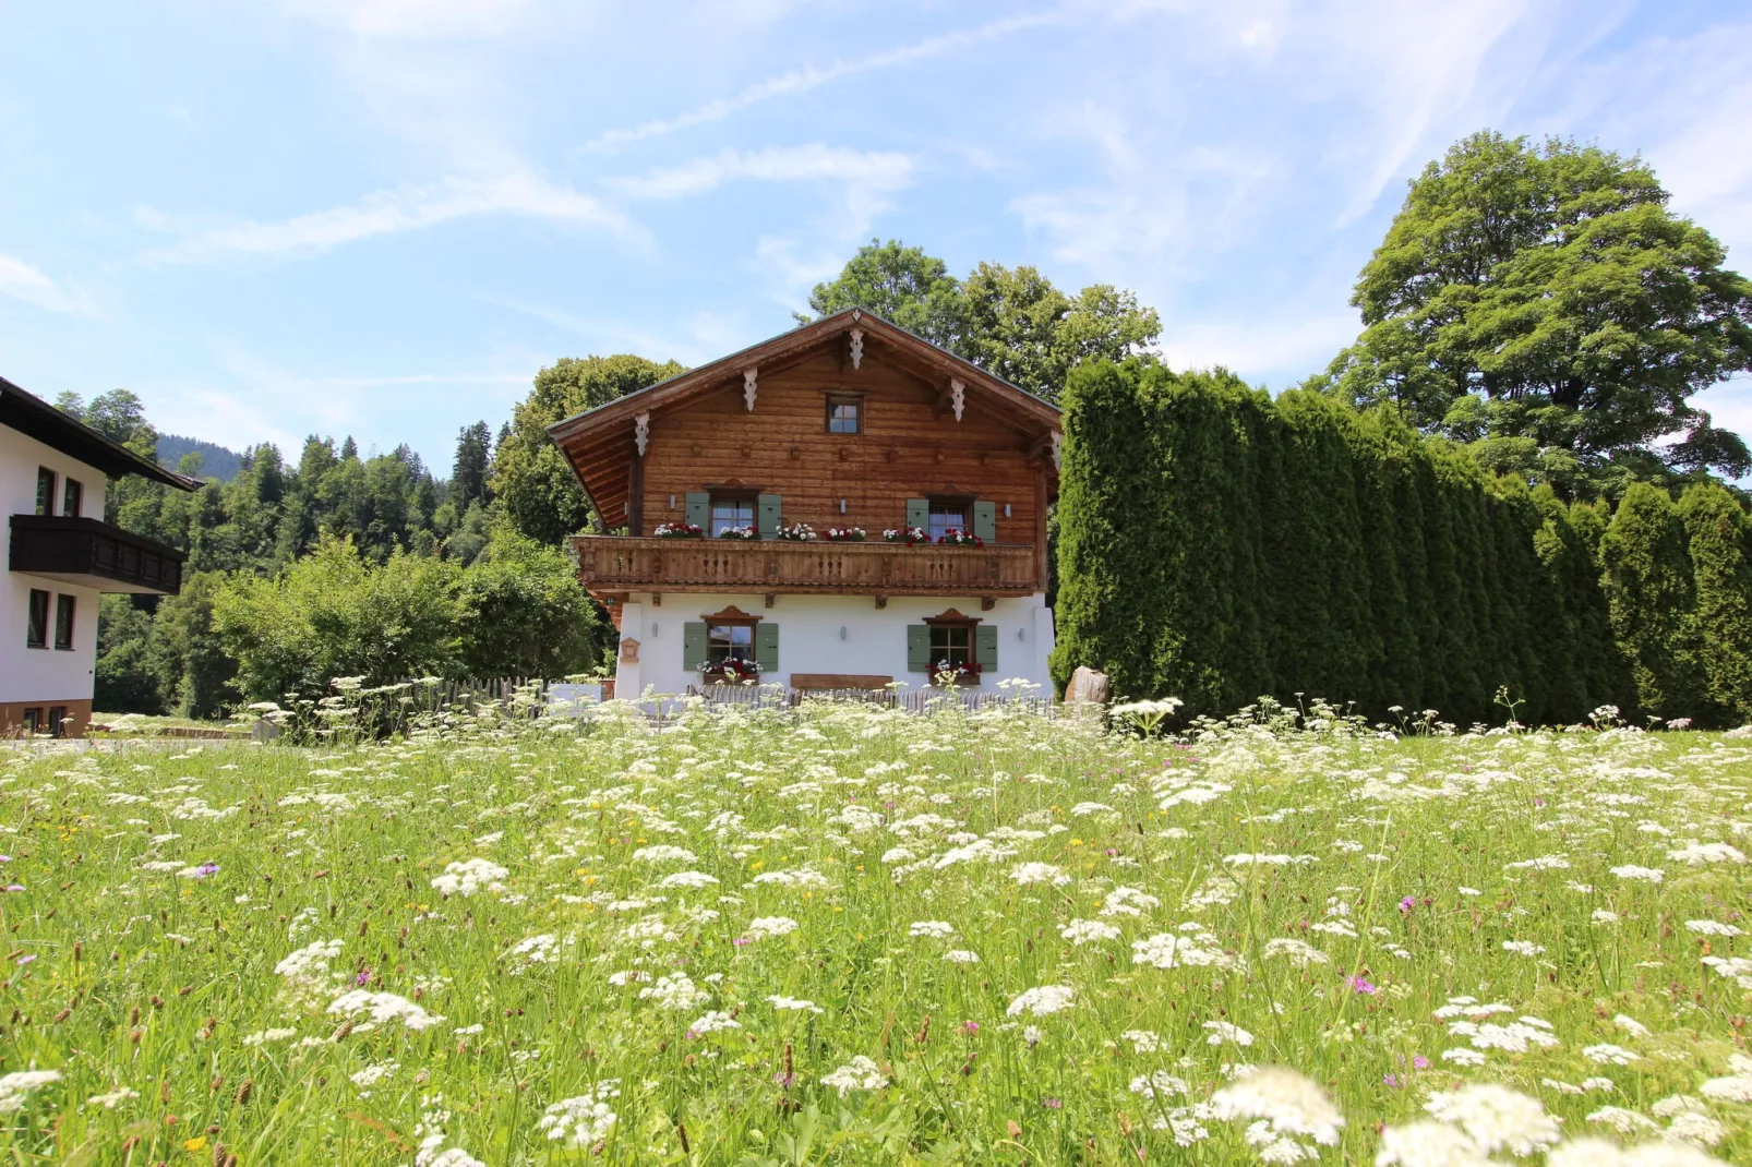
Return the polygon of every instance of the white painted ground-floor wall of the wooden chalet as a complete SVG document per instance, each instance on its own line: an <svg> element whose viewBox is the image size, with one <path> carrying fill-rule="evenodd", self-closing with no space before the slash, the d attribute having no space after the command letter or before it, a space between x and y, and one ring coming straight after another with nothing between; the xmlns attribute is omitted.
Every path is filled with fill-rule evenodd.
<svg viewBox="0 0 1752 1167"><path fill-rule="evenodd" d="M682 626L731 605L780 629L780 668L764 675L762 683L790 685L792 673L865 673L927 685L927 675L906 671L906 629L957 608L999 631L997 669L981 678L983 687L1016 676L1041 685L1041 692L1051 692L1046 655L1053 650L1053 612L1044 594L999 599L990 612L981 612L979 601L965 596L894 596L885 608L878 608L871 596L780 596L771 608L764 603L759 592L666 592L662 606L653 606L650 594L634 592L622 606L620 636L639 641L639 659L638 664L618 664L615 694L636 697L646 689L685 692L699 683L699 676L682 666Z"/></svg>

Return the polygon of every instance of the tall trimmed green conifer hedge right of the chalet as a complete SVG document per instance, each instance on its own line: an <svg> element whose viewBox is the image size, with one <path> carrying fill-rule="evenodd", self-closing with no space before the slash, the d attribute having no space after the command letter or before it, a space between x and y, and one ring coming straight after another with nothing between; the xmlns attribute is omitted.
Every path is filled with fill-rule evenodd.
<svg viewBox="0 0 1752 1167"><path fill-rule="evenodd" d="M1384 410L1149 361L1076 370L1063 407L1060 687L1090 664L1191 715L1752 717L1752 520L1719 485L1570 505Z"/></svg>

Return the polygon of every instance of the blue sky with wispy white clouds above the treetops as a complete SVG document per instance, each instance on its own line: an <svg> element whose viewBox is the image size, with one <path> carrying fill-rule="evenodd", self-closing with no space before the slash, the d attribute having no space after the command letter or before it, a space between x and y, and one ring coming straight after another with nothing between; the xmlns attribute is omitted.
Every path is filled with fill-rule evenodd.
<svg viewBox="0 0 1752 1167"><path fill-rule="evenodd" d="M541 364L711 359L897 237L1281 389L1477 128L1640 151L1752 268L1747 61L1691 0L0 0L0 375L445 471Z"/></svg>

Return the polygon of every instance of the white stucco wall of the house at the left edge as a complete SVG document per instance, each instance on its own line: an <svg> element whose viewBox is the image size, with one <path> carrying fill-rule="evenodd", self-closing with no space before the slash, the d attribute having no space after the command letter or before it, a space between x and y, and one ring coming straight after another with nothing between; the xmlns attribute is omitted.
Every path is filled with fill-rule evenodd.
<svg viewBox="0 0 1752 1167"><path fill-rule="evenodd" d="M103 471L61 454L16 429L0 426L0 515L37 513L37 468L56 473L54 513L61 513L61 491L68 477L84 487L79 513L86 519L103 517ZM7 531L11 547L11 529ZM54 580L21 575L7 564L5 584L0 585L0 701L84 701L98 659L98 592L70 587ZM26 648L25 633L30 626L30 589L51 596L74 596L74 650L56 650L54 601L49 601L49 648Z"/></svg>

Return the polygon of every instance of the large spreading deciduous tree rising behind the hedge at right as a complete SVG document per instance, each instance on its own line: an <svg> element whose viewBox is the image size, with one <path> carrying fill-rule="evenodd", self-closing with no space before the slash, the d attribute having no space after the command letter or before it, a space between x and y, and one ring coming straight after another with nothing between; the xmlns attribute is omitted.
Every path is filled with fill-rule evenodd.
<svg viewBox="0 0 1752 1167"><path fill-rule="evenodd" d="M1752 368L1752 282L1666 202L1640 158L1463 138L1410 182L1351 300L1365 331L1323 384L1465 440L1528 440L1494 452L1505 468L1689 433L1677 468L1741 473L1745 443L1689 400Z"/></svg>

